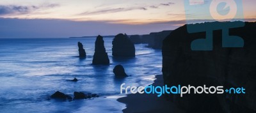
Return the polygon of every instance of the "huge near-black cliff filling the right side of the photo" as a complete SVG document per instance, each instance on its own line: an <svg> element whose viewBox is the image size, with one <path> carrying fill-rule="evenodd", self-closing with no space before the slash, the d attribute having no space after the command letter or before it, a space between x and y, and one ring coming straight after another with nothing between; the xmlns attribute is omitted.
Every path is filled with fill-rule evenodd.
<svg viewBox="0 0 256 113"><path fill-rule="evenodd" d="M186 25L172 31L163 40L164 84L244 87L246 94L186 94L182 98L174 94L169 98L191 112L256 112L255 27L255 22L246 22L244 27L230 29L231 36L243 38L243 48L223 48L221 30L213 31L211 51L191 50L191 41L204 38L205 33L189 34Z"/></svg>

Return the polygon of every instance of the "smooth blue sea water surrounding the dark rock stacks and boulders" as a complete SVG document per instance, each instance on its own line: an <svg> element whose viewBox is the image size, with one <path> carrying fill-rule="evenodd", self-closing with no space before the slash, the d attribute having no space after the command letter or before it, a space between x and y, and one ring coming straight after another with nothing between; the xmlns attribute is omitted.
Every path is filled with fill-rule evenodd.
<svg viewBox="0 0 256 113"><path fill-rule="evenodd" d="M161 50L135 45L136 57L113 58L113 38L104 38L109 66L93 66L95 38L0 39L0 112L122 112L120 84L145 86L161 74ZM79 59L77 41L86 59ZM115 79L113 68L122 64L129 77ZM74 77L78 82L68 82ZM60 102L49 100L55 91L99 94L99 98Z"/></svg>

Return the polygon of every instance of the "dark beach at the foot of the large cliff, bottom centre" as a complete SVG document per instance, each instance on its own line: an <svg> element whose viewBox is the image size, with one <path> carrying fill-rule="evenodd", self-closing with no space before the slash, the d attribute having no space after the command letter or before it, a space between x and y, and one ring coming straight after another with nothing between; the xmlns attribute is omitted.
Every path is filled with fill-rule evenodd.
<svg viewBox="0 0 256 113"><path fill-rule="evenodd" d="M152 86L163 86L163 75L156 75L156 80ZM125 103L128 112L184 112L180 110L174 103L166 101L164 96L157 97L157 94L127 94L123 98L118 98L118 102Z"/></svg>

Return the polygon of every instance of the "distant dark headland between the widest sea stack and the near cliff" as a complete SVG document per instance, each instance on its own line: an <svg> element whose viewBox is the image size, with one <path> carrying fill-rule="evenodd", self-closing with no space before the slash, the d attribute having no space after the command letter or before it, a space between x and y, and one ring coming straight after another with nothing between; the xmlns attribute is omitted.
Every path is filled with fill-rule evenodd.
<svg viewBox="0 0 256 113"><path fill-rule="evenodd" d="M151 47L153 49L161 49L162 41L171 32L172 31L161 31L144 35L131 35L130 39L134 44L148 43L148 47Z"/></svg>

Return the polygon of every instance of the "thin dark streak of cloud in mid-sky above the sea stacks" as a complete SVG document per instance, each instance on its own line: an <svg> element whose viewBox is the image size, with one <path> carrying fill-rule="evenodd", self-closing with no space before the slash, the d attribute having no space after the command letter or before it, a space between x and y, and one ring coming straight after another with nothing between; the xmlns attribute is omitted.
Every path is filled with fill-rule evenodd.
<svg viewBox="0 0 256 113"><path fill-rule="evenodd" d="M147 10L147 8L105 8L97 11L85 11L83 13L79 13L79 15L98 15L102 13L117 13L122 11L131 11L131 10Z"/></svg>

